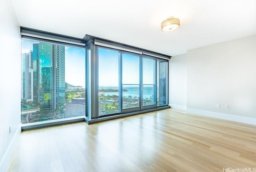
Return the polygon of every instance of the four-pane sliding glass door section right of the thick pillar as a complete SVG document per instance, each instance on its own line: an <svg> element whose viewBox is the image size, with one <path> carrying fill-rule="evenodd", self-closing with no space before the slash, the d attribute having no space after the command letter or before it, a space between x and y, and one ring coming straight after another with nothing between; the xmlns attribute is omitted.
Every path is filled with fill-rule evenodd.
<svg viewBox="0 0 256 172"><path fill-rule="evenodd" d="M168 61L98 47L98 114L118 115L168 104Z"/></svg>

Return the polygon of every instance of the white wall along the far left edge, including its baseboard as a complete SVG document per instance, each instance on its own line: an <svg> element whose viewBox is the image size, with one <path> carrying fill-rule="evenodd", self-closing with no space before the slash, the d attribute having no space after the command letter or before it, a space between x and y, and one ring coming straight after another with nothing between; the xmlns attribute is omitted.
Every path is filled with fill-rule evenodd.
<svg viewBox="0 0 256 172"><path fill-rule="evenodd" d="M21 130L19 23L10 0L0 1L0 25L0 171L4 172Z"/></svg>

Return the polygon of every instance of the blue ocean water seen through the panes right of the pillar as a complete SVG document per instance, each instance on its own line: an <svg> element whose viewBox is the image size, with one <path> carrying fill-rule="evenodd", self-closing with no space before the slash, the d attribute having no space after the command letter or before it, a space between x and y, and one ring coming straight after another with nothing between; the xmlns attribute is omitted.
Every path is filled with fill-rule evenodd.
<svg viewBox="0 0 256 172"><path fill-rule="evenodd" d="M99 89L113 89L116 90L118 87L111 87L111 86L104 86L99 87ZM123 92L123 96L132 96L132 97L139 97L140 96L140 87L139 86L123 86L123 89L128 90L127 92ZM118 92L99 92L99 94L104 93L106 96L116 95L118 96ZM150 96L154 95L154 86L144 86L143 89L143 98L150 98Z"/></svg>

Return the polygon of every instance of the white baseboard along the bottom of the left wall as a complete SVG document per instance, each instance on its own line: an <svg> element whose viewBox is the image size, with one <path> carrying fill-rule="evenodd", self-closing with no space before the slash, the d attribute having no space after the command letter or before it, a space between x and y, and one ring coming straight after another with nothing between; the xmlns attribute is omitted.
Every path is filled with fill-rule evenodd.
<svg viewBox="0 0 256 172"><path fill-rule="evenodd" d="M6 152L4 153L4 156L1 158L0 161L0 172L5 172L7 170L9 161L11 159L12 153L18 143L18 139L20 137L21 133L21 123L18 126L16 132L14 133L14 136L12 138L12 141L10 142L8 148L6 149Z"/></svg>

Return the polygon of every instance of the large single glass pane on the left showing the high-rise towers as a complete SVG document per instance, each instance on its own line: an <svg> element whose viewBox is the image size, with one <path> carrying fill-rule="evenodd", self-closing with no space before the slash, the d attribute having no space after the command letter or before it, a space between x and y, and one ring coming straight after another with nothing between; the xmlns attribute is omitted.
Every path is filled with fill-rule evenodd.
<svg viewBox="0 0 256 172"><path fill-rule="evenodd" d="M22 123L85 115L85 49L22 39Z"/></svg>

